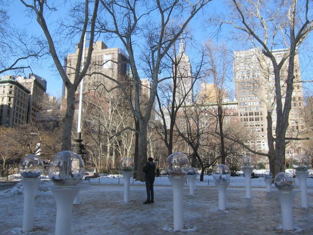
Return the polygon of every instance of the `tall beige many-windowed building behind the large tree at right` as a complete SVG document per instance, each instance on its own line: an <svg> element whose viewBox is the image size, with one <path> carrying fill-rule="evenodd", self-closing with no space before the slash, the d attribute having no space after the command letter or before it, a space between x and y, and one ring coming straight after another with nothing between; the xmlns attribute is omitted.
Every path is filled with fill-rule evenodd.
<svg viewBox="0 0 313 235"><path fill-rule="evenodd" d="M273 50L279 63L286 49ZM275 137L276 129L276 100L274 88L274 73L271 62L257 49L234 52L234 80L236 98L238 100L239 120L251 133L250 141L246 142L252 149L267 152L267 112L273 107L272 128ZM292 93L292 107L289 116L289 136L301 134L305 129L304 101L301 86L301 73L298 55L295 56L294 91ZM286 79L288 64L281 70L281 91L283 103L285 101ZM287 146L288 149L288 146ZM286 152L288 153L289 150Z"/></svg>

